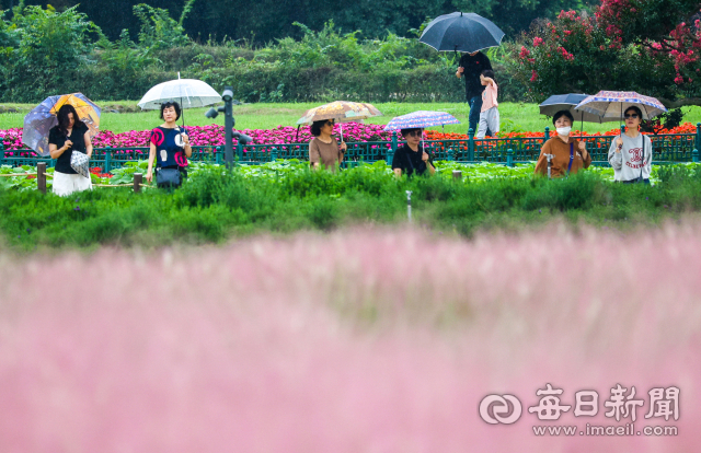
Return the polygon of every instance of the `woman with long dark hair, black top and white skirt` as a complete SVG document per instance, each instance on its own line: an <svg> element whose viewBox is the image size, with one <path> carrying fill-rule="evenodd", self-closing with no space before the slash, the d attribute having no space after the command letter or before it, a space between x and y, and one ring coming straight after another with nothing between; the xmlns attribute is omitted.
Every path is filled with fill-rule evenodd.
<svg viewBox="0 0 701 453"><path fill-rule="evenodd" d="M58 125L49 130L48 152L56 159L54 194L68 196L74 191L92 189L90 175L83 176L70 164L73 151L92 155L92 142L88 126L78 118L76 107L64 104L56 115Z"/></svg>

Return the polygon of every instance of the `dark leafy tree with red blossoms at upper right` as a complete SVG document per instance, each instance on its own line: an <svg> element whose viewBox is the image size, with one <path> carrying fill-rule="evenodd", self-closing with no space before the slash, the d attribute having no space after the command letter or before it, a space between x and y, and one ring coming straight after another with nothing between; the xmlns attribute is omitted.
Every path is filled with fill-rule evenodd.
<svg viewBox="0 0 701 453"><path fill-rule="evenodd" d="M522 35L514 70L533 101L637 91L668 108L701 105L699 0L602 0L594 16L562 11Z"/></svg>

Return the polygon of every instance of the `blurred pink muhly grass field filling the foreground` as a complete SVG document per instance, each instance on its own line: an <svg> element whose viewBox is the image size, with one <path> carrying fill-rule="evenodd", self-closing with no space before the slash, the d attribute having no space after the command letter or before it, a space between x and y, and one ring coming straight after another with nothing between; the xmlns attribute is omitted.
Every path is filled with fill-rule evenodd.
<svg viewBox="0 0 701 453"><path fill-rule="evenodd" d="M698 452L701 228L472 242L354 230L185 252L0 253L3 452ZM559 421L528 407L550 383ZM620 425L676 437L537 437ZM645 419L680 388L680 417ZM599 415L574 417L574 393ZM487 394L524 406L479 416ZM628 395L628 393L627 393Z"/></svg>

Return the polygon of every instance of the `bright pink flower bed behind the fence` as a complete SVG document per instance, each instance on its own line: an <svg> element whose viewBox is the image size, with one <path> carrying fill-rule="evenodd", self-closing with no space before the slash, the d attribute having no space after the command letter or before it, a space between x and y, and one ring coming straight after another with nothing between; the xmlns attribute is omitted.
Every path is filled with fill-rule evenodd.
<svg viewBox="0 0 701 453"><path fill-rule="evenodd" d="M359 123L346 123L343 125L344 138L349 142L387 141L391 139L391 132L382 130L381 125L364 125ZM223 126L187 126L191 142L197 147L223 146ZM340 127L335 126L336 133ZM297 127L278 126L275 129L243 129L241 132L253 138L256 144L307 143L312 139L309 126L302 126L297 138ZM103 130L93 139L95 148L141 148L148 147L150 130L130 130L115 133ZM5 149L7 156L34 155L32 151L23 151L26 146L22 143L22 128L0 130L0 139ZM234 140L235 142L235 140ZM15 151L20 150L19 153Z"/></svg>

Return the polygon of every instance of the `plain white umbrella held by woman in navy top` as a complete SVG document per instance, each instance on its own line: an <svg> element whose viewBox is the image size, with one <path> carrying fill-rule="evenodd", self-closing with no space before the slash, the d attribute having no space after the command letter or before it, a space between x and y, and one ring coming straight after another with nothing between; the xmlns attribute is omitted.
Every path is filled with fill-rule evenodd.
<svg viewBox="0 0 701 453"><path fill-rule="evenodd" d="M156 111L164 102L177 102L182 108L196 108L221 102L221 96L202 80L181 79L179 72L177 80L153 86L137 105L145 111Z"/></svg>

